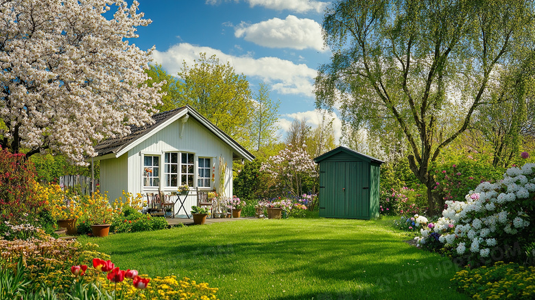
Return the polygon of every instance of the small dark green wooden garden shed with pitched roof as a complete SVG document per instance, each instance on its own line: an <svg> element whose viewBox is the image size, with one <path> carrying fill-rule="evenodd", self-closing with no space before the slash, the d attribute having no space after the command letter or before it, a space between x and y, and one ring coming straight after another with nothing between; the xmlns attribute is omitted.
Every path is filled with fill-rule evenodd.
<svg viewBox="0 0 535 300"><path fill-rule="evenodd" d="M320 217L379 217L381 161L340 146L314 159L320 164Z"/></svg>

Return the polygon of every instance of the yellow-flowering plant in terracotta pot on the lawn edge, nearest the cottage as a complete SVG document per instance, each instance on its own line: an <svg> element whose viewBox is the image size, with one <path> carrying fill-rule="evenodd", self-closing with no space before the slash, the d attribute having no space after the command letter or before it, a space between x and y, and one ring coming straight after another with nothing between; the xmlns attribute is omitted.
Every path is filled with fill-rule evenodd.
<svg viewBox="0 0 535 300"><path fill-rule="evenodd" d="M87 203L84 203L84 208L88 213L88 221L91 223L93 236L108 236L111 222L122 213L122 206L123 203L120 200L115 200L113 205L110 205L108 195L104 194L103 196L99 191L88 197Z"/></svg>

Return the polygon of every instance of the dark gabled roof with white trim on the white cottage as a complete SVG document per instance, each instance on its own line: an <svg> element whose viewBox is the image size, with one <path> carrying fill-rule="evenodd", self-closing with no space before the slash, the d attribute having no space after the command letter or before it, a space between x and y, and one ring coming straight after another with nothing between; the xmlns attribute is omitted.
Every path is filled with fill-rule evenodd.
<svg viewBox="0 0 535 300"><path fill-rule="evenodd" d="M223 130L219 129L210 122L209 119L206 119L206 117L202 116L189 105L152 115L152 119L154 119L153 124L147 124L141 127L134 125L130 126L130 135L127 135L126 137L106 139L105 141L102 141L94 147L95 152L97 152L96 159L104 159L104 155L106 155L106 158L108 158L108 155L110 157L120 157L122 154L128 152L128 150L145 141L145 139L152 137L156 132L186 115L195 118L198 122L204 125L204 127L213 132L214 135L219 137L219 139L222 139L227 143L228 146L234 150L233 158L246 159L248 161L254 159L254 155L248 152L246 148L243 148L237 141L229 137Z"/></svg>

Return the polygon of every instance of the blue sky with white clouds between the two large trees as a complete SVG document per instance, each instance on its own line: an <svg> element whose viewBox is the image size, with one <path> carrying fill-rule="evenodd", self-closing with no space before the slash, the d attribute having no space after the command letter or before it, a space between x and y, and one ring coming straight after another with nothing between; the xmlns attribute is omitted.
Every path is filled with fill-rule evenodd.
<svg viewBox="0 0 535 300"><path fill-rule="evenodd" d="M129 1L131 3L131 1ZM253 93L259 83L270 85L273 100L280 100L281 134L294 117L317 126L313 78L331 51L321 35L324 8L316 0L139 0L139 10L152 24L138 27L135 43L153 45L152 57L173 74L201 52L215 54L243 73ZM335 118L340 136L340 120Z"/></svg>

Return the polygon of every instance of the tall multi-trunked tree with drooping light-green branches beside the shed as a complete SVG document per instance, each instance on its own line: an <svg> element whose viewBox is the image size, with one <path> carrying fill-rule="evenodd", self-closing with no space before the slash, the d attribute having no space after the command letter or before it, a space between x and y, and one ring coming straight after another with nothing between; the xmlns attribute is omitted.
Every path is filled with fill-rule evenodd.
<svg viewBox="0 0 535 300"><path fill-rule="evenodd" d="M533 16L521 0L335 1L322 24L333 56L318 71L317 105L336 104L370 136L402 132L436 213L430 163L488 104L490 82L529 55Z"/></svg>

